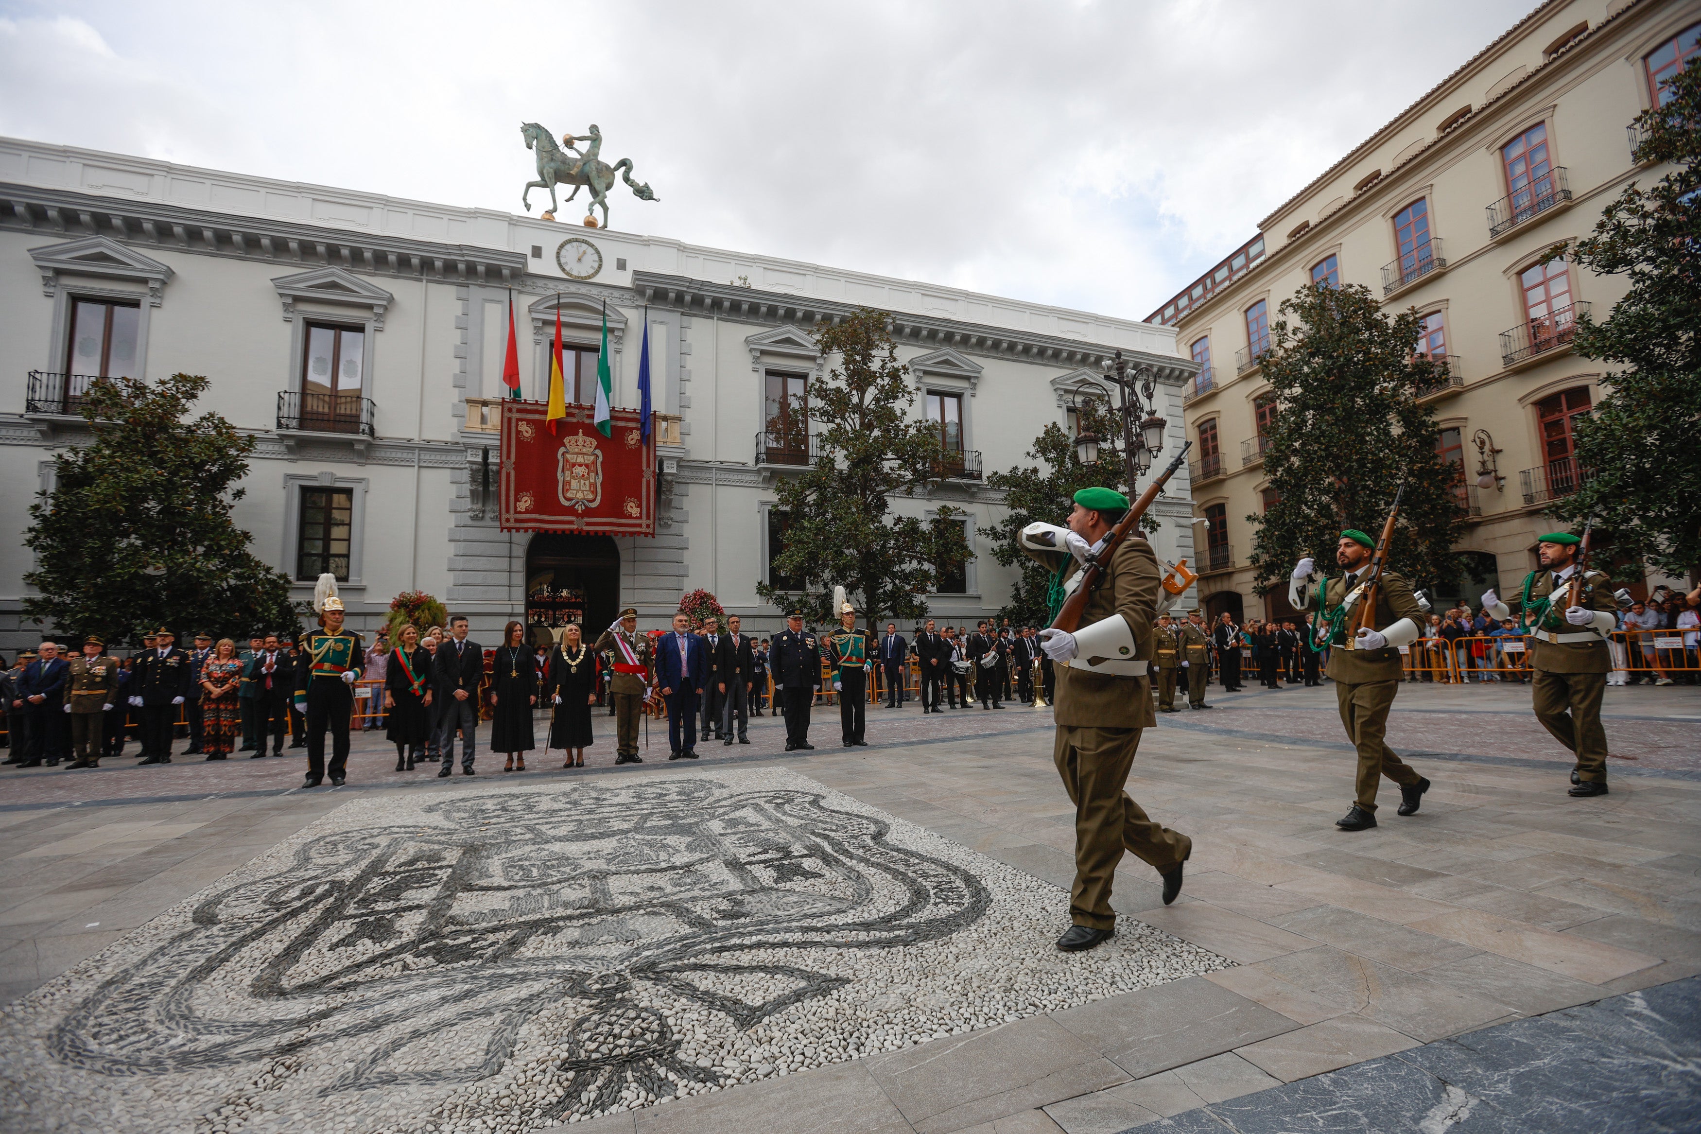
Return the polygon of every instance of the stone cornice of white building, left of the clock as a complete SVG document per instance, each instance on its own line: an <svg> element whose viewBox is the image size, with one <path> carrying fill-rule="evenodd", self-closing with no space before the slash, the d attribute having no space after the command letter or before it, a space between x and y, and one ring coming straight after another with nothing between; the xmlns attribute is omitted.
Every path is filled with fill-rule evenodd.
<svg viewBox="0 0 1701 1134"><path fill-rule="evenodd" d="M526 257L519 252L407 240L10 182L0 182L0 230L65 238L107 236L138 248L301 269L340 267L369 275L451 284L509 284L526 275Z"/></svg>

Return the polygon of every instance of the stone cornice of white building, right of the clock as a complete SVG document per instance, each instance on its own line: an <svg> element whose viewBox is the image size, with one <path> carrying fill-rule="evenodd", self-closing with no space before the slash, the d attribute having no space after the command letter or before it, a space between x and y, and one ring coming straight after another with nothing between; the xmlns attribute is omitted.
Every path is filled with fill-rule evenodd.
<svg viewBox="0 0 1701 1134"><path fill-rule="evenodd" d="M643 303L653 308L730 318L740 323L765 326L791 323L808 330L811 326L839 323L857 311L857 304L854 303L788 296L755 287L740 287L737 284L711 284L691 279L689 275L667 275L662 272L633 272L633 291L638 292ZM929 350L949 347L964 355L1007 357L1039 366L1097 367L1116 352L1114 347L1077 342L1056 335L1012 332L1002 326L985 326L905 311L891 313L891 337L900 345L925 347ZM1180 386L1199 369L1191 359L1145 350L1123 350L1123 357L1136 366L1150 366L1157 372L1158 381L1169 386Z"/></svg>

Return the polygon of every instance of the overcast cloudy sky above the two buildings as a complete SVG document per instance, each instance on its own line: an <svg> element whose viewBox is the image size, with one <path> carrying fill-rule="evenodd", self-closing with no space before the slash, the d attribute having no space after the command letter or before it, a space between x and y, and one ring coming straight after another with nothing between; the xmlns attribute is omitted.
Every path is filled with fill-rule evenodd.
<svg viewBox="0 0 1701 1134"><path fill-rule="evenodd" d="M0 0L0 134L519 213L597 122L616 228L1145 318L1531 7Z"/></svg>

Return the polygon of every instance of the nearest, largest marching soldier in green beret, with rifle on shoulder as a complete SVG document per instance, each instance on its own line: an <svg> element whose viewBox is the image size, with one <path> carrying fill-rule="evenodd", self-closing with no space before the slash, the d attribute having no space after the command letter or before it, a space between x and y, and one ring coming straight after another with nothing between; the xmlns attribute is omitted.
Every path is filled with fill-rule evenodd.
<svg viewBox="0 0 1701 1134"><path fill-rule="evenodd" d="M1068 532L1029 524L1021 546L1053 571L1067 564L1063 585L1073 590L1084 570L1080 554L1107 537L1126 512L1123 493L1084 488L1075 493ZM1070 532L1078 539L1068 541ZM1133 532L1101 566L1104 573L1087 598L1080 627L1073 634L1060 629L1039 634L1041 648L1056 663L1053 760L1075 804L1073 925L1058 938L1065 952L1092 949L1114 937L1111 882L1124 850L1162 876L1165 904L1180 894L1182 864L1192 853L1191 838L1150 819L1123 791L1140 748L1140 729L1157 724L1148 668L1152 621L1162 588L1158 559L1152 544Z"/></svg>

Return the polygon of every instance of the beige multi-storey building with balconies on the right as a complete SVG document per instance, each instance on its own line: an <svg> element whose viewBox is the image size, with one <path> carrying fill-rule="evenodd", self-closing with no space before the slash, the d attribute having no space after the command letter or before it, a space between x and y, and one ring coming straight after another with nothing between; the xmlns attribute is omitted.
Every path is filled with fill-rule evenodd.
<svg viewBox="0 0 1701 1134"><path fill-rule="evenodd" d="M1698 0L1543 3L1150 316L1201 366L1182 405L1213 617L1289 612L1284 590L1254 597L1247 517L1267 503L1262 435L1279 413L1259 352L1310 281L1363 284L1424 316L1417 347L1448 364L1429 400L1461 473L1459 547L1502 593L1534 564L1546 508L1582 474L1572 425L1609 379L1572 352L1573 320L1604 318L1624 294L1621 279L1541 257L1587 236L1626 184L1665 172L1638 167L1626 133L1662 77L1701 65L1698 34ZM1475 598L1487 583L1439 583L1458 587Z"/></svg>

